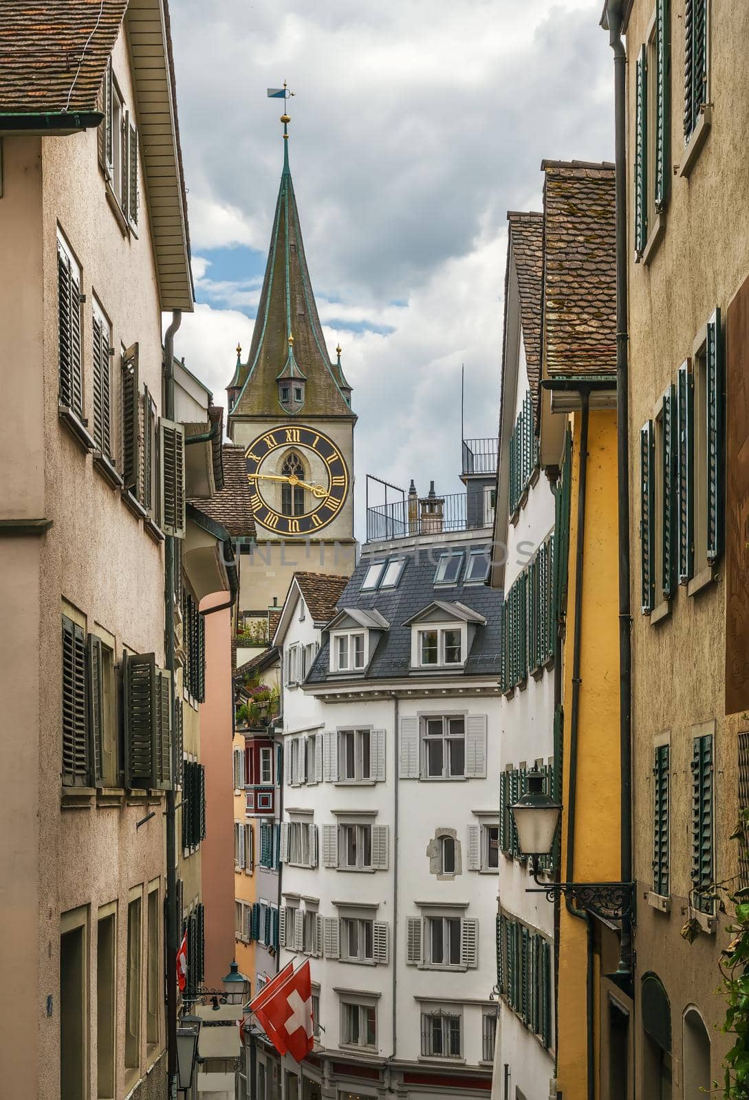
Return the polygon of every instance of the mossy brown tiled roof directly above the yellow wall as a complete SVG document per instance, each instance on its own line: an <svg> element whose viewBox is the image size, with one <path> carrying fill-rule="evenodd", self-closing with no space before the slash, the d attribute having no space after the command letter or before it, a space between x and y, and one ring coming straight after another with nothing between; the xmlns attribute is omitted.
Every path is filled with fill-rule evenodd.
<svg viewBox="0 0 749 1100"><path fill-rule="evenodd" d="M614 165L544 161L541 167L544 375L615 374Z"/></svg>

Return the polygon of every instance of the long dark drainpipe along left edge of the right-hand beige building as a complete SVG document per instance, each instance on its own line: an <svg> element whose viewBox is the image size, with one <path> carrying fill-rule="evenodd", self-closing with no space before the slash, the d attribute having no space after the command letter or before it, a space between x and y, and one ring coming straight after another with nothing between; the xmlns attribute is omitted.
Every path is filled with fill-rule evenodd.
<svg viewBox="0 0 749 1100"><path fill-rule="evenodd" d="M627 54L621 41L621 0L606 4L608 41L614 51L616 164L616 424L619 516L619 766L621 771L621 881L632 880L631 681L632 640L629 579L629 372L627 345ZM617 972L632 972L632 922L621 920Z"/></svg>

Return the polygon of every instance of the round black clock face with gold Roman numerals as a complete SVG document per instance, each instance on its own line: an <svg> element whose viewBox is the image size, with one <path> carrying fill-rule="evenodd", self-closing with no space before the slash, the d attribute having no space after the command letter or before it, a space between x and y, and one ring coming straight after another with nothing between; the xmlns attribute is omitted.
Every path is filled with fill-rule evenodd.
<svg viewBox="0 0 749 1100"><path fill-rule="evenodd" d="M315 428L272 428L244 452L255 522L276 535L313 535L339 514L349 468Z"/></svg>

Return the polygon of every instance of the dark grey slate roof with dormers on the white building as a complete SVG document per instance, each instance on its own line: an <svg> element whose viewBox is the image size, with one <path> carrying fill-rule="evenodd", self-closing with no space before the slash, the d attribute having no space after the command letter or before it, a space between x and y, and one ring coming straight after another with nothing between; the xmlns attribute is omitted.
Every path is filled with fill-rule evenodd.
<svg viewBox="0 0 749 1100"><path fill-rule="evenodd" d="M476 547L485 543L476 542ZM454 549L452 543L451 549ZM418 612L434 600L460 602L486 619L486 626L476 626L473 646L461 672L443 672L441 678L453 675L499 676L502 664L502 604L503 593L485 584L463 584L465 568L461 570L461 583L434 585L439 547L420 548L409 552L400 581L396 588L362 592L362 581L377 554L362 558L354 573L341 593L339 607L356 607L363 610L376 609L389 623L389 629L379 634L379 640L370 660L364 679L393 680L409 676L411 661L411 627L406 625ZM466 547L467 553L467 547ZM383 558L385 556L383 554ZM322 683L328 679L329 636L323 634L320 651L307 676L307 683ZM340 682L342 678L333 678ZM352 678L353 679L353 678ZM412 678L411 678L412 679Z"/></svg>

